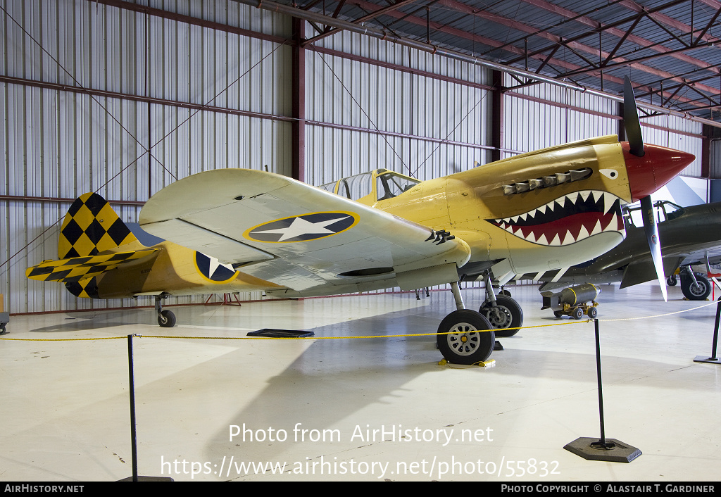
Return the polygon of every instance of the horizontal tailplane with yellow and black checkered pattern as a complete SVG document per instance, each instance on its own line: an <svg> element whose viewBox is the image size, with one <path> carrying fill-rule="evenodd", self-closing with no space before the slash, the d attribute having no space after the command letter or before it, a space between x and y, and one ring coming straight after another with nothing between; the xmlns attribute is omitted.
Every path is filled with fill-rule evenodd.
<svg viewBox="0 0 721 497"><path fill-rule="evenodd" d="M118 265L130 260L141 259L151 255L156 249L137 250L136 252L116 252L115 254L74 257L62 260L46 260L43 263L27 268L25 276L31 280L60 281L75 283L82 279L105 273Z"/></svg>

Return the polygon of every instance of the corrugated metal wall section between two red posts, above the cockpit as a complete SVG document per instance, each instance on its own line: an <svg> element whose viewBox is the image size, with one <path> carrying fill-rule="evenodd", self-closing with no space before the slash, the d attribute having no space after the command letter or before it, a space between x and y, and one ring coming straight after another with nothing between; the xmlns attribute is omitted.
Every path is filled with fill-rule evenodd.
<svg viewBox="0 0 721 497"><path fill-rule="evenodd" d="M488 84L485 69L350 32L319 45L333 53L306 50L307 182L376 167L425 180L486 162L490 99L471 85Z"/></svg>

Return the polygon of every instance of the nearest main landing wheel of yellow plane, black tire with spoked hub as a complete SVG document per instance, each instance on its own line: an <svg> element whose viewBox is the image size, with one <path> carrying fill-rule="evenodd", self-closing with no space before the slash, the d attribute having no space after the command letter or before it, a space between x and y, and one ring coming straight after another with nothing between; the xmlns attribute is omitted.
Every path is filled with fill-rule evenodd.
<svg viewBox="0 0 721 497"><path fill-rule="evenodd" d="M491 355L495 333L490 322L472 309L451 312L438 325L435 341L448 362L477 364Z"/></svg>

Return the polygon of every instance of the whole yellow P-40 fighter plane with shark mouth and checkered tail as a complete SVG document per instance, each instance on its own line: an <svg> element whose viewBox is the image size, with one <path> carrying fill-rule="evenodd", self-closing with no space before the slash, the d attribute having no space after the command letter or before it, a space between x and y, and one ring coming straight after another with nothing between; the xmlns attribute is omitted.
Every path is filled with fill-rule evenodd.
<svg viewBox="0 0 721 497"><path fill-rule="evenodd" d="M523 320L515 300L494 294L493 276L503 284L610 250L624 238L622 204L650 200L694 159L628 134L630 144L591 138L423 182L376 170L318 188L257 170L200 172L143 206L141 226L164 240L151 247L89 193L63 222L60 260L27 276L96 299L154 295L162 326L175 322L162 309L169 295L303 297L450 283L457 309L438 327L438 348L474 364L490 356L492 328L512 335L504 329ZM487 298L476 312L465 309L458 282L478 275Z"/></svg>

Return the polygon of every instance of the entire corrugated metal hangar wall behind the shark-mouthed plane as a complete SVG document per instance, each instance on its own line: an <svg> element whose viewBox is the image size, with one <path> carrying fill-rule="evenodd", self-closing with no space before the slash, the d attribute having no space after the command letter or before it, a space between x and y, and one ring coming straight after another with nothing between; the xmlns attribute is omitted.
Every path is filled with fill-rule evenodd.
<svg viewBox="0 0 721 497"><path fill-rule="evenodd" d="M25 278L56 258L81 193L136 221L149 195L195 172L291 175L291 19L233 0L147 4L159 10L0 0L0 292L14 313L135 305ZM428 179L489 162L487 70L348 32L307 48L305 62L307 182L376 167ZM536 85L504 102L504 157L616 133L616 104L597 97ZM681 138L655 130L649 143L699 146L693 126L668 126ZM190 302L202 300L167 303Z"/></svg>

